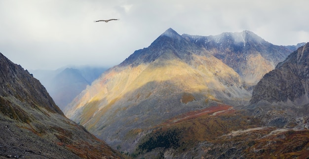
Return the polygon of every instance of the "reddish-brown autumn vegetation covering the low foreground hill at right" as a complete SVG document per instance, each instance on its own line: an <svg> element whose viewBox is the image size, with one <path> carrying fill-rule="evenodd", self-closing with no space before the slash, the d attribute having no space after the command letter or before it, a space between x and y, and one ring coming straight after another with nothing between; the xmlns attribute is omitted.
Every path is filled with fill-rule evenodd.
<svg viewBox="0 0 309 159"><path fill-rule="evenodd" d="M158 138L166 138L168 132L173 132L179 138L178 143L161 148L173 148L178 152L184 152L197 143L208 142L215 147L241 145L239 150L247 159L309 157L309 130L287 129L271 133L276 129L264 126L261 119L247 116L241 110L233 110L228 105L218 105L189 112L157 125L151 133L142 138L142 146L139 146L135 153L146 153L149 147L145 148L143 143L157 144L155 142ZM211 149L205 148L204 153Z"/></svg>

